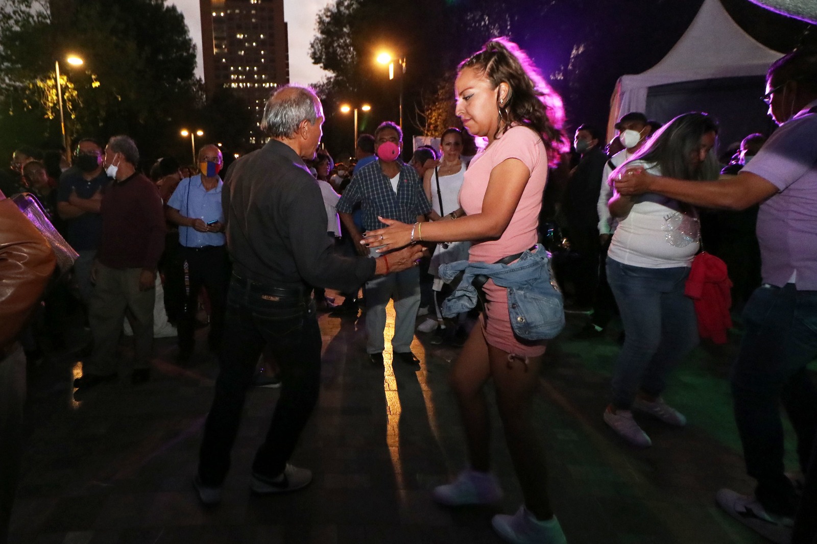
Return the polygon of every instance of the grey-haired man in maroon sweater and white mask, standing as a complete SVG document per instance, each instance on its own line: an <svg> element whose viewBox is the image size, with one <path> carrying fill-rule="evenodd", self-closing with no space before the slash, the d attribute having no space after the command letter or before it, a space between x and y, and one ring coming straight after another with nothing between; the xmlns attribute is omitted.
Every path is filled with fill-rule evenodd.
<svg viewBox="0 0 817 544"><path fill-rule="evenodd" d="M102 235L91 270L95 287L88 318L94 350L83 376L74 380L79 389L117 377L116 347L126 310L133 317L136 351L131 379L138 384L150 377L156 266L165 224L162 198L153 182L136 172L138 163L139 150L129 137L114 136L105 146L105 172L114 179L95 201Z"/></svg>

